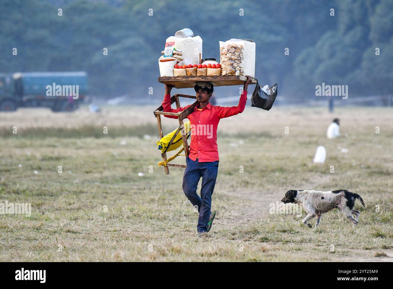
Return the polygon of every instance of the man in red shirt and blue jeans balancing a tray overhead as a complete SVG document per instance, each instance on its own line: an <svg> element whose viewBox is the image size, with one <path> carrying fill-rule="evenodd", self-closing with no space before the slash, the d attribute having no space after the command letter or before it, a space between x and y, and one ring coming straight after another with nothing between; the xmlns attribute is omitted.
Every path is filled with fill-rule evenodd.
<svg viewBox="0 0 393 289"><path fill-rule="evenodd" d="M244 83L243 93L240 96L239 104L234 107L220 107L209 103L213 93L213 84L210 82L196 82L194 87L196 92L196 104L194 111L187 116L191 127L191 144L189 156L185 162L187 164L183 176L183 191L191 204L198 209L198 236L209 232L215 212L210 211L211 195L216 184L219 168L219 153L217 147L217 126L221 118L228 118L243 112L247 100L247 87L252 82L247 75ZM187 109L191 105L171 108L172 85L165 84L165 95L162 101L163 111L179 112ZM167 116L167 118L177 118L177 116ZM198 182L202 177L202 188L200 197L196 193Z"/></svg>

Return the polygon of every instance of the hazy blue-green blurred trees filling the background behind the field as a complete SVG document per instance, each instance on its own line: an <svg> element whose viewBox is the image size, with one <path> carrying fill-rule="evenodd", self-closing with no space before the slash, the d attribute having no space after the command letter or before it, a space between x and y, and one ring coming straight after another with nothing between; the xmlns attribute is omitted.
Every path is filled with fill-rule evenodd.
<svg viewBox="0 0 393 289"><path fill-rule="evenodd" d="M315 97L322 82L389 94L392 23L391 0L2 0L0 72L84 70L91 94L144 96L162 87L165 39L188 27L202 37L204 58L219 59L219 40L253 39L255 77L288 97Z"/></svg>

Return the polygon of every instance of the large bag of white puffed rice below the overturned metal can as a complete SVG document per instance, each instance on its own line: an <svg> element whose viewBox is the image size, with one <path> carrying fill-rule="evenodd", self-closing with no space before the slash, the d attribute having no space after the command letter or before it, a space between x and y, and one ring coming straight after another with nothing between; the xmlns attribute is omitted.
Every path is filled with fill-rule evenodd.
<svg viewBox="0 0 393 289"><path fill-rule="evenodd" d="M174 42L174 48L178 48L182 51L182 57L184 59L191 59L189 64L199 64L199 53L201 59L202 55L202 38L200 36L195 37L168 37L166 42Z"/></svg>

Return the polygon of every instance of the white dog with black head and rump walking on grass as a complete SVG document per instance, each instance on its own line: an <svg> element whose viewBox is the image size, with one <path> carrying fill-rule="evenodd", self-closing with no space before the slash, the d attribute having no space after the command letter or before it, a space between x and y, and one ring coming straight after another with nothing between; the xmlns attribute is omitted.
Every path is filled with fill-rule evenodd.
<svg viewBox="0 0 393 289"><path fill-rule="evenodd" d="M352 221L354 226L358 225L360 211L353 210L355 199L358 199L365 207L364 201L360 195L351 193L347 190L290 190L285 193L285 197L283 197L281 202L284 204L295 203L301 205L308 214L302 222L310 228L312 228L312 226L307 221L317 216L317 221L315 223L315 228L317 228L321 220L321 215L334 208L340 208L345 217ZM356 219L352 217L352 214L355 215Z"/></svg>

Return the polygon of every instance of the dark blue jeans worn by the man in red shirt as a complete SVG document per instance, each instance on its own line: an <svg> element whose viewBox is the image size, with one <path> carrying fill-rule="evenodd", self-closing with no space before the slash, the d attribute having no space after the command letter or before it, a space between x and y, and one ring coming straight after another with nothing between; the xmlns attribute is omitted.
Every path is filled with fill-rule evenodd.
<svg viewBox="0 0 393 289"><path fill-rule="evenodd" d="M194 162L187 156L185 162L187 166L183 176L183 191L191 204L198 208L199 217L198 226L196 227L198 232L206 232L210 219L211 195L216 184L219 161L198 162L198 159L196 159ZM196 188L201 177L202 188L199 197L196 193Z"/></svg>

